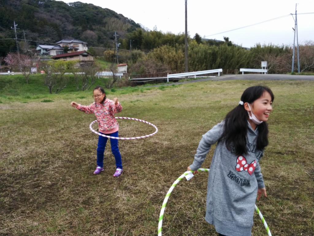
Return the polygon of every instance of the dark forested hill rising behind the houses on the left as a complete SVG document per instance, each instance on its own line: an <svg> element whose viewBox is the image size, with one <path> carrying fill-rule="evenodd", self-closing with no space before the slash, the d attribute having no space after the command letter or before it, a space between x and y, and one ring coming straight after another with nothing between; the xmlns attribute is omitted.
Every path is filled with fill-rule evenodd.
<svg viewBox="0 0 314 236"><path fill-rule="evenodd" d="M115 31L120 37L141 28L133 20L93 4L54 0L0 0L0 56L16 50L18 41L55 43L78 39L93 47L112 47Z"/></svg>

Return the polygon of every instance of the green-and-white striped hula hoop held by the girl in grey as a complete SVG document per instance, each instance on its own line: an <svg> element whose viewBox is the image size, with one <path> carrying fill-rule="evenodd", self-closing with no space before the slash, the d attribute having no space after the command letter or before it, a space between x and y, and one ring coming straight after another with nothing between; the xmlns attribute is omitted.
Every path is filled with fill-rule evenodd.
<svg viewBox="0 0 314 236"><path fill-rule="evenodd" d="M203 172L208 172L209 169L203 169L203 168L200 168L198 169L198 171L203 171ZM166 197L165 197L165 200L164 202L162 203L162 206L161 206L161 210L160 210L160 215L159 215L159 223L158 223L158 236L161 236L161 230L162 230L162 219L164 217L164 212L165 212L165 208L166 208L166 204L167 204L167 201L170 197L170 194L172 192L172 190L176 187L177 183L180 182L181 179L183 179L184 177L186 177L187 175L191 175L193 173L193 171L186 171L184 172L179 178L176 179L176 181L171 185L171 187L169 188L168 190L168 193L166 194ZM191 177L190 177L191 178ZM268 233L268 236L272 236L272 234L270 233L270 230L267 226L267 223L262 215L262 213L259 211L259 209L257 208L257 206L255 205L255 210L257 211L259 217L262 219L262 222L264 224L264 227L266 228L266 231Z"/></svg>

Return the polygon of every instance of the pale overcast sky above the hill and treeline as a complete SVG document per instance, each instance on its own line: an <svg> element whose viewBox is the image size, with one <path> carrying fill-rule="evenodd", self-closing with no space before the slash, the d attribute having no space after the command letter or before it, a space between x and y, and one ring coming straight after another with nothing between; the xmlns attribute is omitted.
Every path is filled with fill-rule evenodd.
<svg viewBox="0 0 314 236"><path fill-rule="evenodd" d="M149 30L156 27L164 33L185 32L185 0L79 2L109 8ZM208 39L229 37L233 43L248 48L256 43L293 45L295 10L299 44L314 41L314 1L306 0L187 0L187 31L190 37L195 33Z"/></svg>

